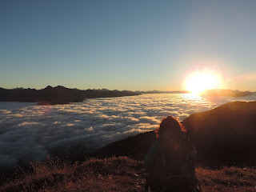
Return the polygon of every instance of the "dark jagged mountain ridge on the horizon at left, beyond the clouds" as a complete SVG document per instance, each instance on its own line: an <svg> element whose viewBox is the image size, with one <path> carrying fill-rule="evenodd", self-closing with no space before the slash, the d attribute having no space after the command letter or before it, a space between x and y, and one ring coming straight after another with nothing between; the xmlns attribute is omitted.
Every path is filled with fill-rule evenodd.
<svg viewBox="0 0 256 192"><path fill-rule="evenodd" d="M138 95L128 90L78 90L64 86L46 86L42 90L0 88L0 102L38 102L39 105L82 102L85 98L112 98Z"/></svg>

